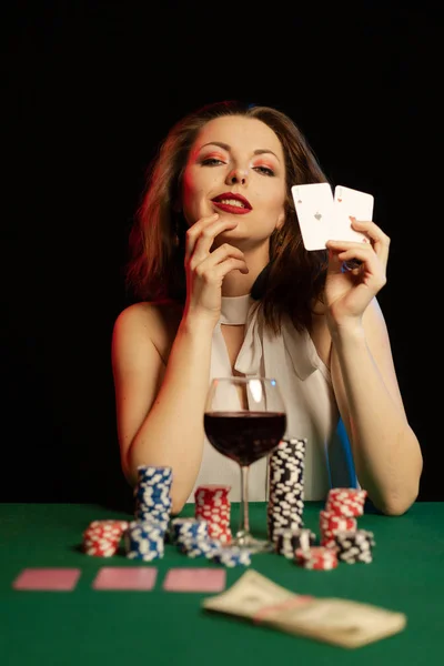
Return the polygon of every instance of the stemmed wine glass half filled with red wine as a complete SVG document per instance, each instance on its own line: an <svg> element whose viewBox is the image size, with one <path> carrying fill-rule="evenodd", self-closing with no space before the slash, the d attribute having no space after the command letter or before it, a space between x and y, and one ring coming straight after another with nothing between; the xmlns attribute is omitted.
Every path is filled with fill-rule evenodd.
<svg viewBox="0 0 444 666"><path fill-rule="evenodd" d="M240 527L231 545L252 553L270 551L255 538L249 522L250 465L269 455L286 428L285 406L278 382L268 377L215 377L210 385L203 425L209 442L241 470Z"/></svg>

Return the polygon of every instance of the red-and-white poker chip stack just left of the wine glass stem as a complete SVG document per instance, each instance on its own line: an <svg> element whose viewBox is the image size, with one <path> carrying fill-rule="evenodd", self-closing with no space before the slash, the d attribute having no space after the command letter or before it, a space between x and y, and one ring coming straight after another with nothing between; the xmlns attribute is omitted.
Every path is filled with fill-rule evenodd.
<svg viewBox="0 0 444 666"><path fill-rule="evenodd" d="M229 485L201 485L194 491L194 517L206 521L209 536L230 544L232 539L230 528L231 502Z"/></svg>

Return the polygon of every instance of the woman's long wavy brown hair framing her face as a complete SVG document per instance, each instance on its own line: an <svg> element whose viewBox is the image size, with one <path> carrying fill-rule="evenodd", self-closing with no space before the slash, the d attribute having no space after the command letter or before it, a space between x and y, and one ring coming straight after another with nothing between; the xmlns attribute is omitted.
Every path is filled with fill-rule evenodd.
<svg viewBox="0 0 444 666"><path fill-rule="evenodd" d="M270 263L253 285L262 316L275 333L284 314L299 330L310 330L312 304L322 300L326 251L303 245L291 186L329 182L302 132L282 111L222 101L206 104L176 122L147 171L145 188L130 231L125 284L135 300L185 301L186 225L175 212L190 150L202 127L223 115L255 118L281 141L286 170L285 222L270 239Z"/></svg>

